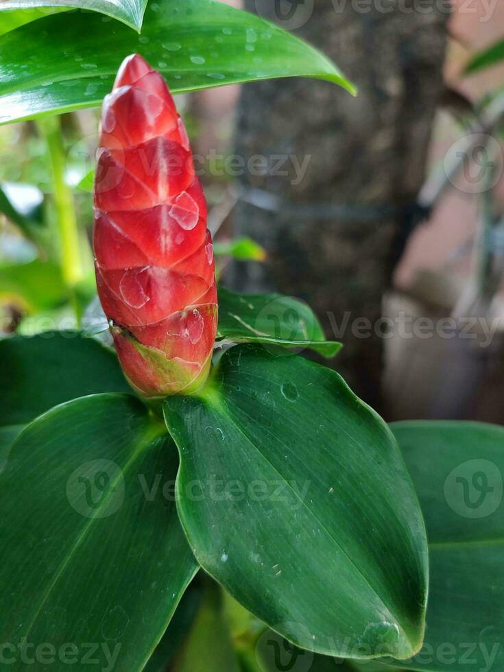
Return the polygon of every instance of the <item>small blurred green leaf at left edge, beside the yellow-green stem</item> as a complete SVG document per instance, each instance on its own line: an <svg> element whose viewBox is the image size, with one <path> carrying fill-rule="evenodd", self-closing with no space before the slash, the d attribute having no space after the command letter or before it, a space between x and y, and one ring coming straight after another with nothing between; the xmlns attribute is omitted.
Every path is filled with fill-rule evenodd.
<svg viewBox="0 0 504 672"><path fill-rule="evenodd" d="M30 311L42 311L62 304L68 289L58 264L34 259L24 264L0 265L0 296L19 302Z"/></svg>

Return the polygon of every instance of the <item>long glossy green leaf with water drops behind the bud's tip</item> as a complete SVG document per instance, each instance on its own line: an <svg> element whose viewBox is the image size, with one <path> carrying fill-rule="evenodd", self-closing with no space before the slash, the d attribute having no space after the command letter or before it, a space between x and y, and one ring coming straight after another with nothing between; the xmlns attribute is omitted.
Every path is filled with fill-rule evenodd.
<svg viewBox="0 0 504 672"><path fill-rule="evenodd" d="M173 93L296 75L353 91L328 58L258 16L212 0L153 2L141 37L94 12L48 16L3 35L0 122L101 104L133 51Z"/></svg>

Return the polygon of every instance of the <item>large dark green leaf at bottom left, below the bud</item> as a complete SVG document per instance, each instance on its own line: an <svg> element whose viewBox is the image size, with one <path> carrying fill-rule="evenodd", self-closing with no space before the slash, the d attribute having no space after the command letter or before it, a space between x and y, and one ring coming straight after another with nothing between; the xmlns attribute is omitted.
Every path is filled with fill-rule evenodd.
<svg viewBox="0 0 504 672"><path fill-rule="evenodd" d="M177 467L130 395L70 401L19 435L0 476L9 669L143 669L197 568L163 496Z"/></svg>

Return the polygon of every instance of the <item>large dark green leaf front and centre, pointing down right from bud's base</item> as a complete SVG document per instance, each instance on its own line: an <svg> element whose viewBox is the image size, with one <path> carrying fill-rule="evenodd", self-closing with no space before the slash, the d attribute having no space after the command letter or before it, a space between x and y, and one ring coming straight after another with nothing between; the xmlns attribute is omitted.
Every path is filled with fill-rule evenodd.
<svg viewBox="0 0 504 672"><path fill-rule="evenodd" d="M178 512L198 562L296 645L408 658L422 643L427 542L392 433L338 374L228 350L165 403Z"/></svg>

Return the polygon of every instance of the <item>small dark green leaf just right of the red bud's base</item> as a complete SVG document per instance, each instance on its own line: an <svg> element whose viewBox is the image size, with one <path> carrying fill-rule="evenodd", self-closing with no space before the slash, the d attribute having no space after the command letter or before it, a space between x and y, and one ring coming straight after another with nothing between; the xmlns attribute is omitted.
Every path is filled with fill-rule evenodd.
<svg viewBox="0 0 504 672"><path fill-rule="evenodd" d="M326 341L320 322L307 304L281 294L239 294L219 287L217 339L235 343L262 343L310 348L324 357L334 357L340 343Z"/></svg>

